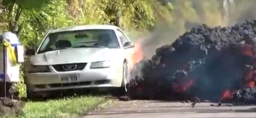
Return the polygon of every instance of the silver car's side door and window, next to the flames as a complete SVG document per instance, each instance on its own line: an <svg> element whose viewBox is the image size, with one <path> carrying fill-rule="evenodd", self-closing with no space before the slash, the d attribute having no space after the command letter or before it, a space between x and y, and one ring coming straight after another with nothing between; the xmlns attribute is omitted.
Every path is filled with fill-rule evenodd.
<svg viewBox="0 0 256 118"><path fill-rule="evenodd" d="M117 29L118 32L118 38L121 41L122 44L122 48L124 48L124 44L126 42L131 42L130 39L124 34L124 32L120 29ZM134 47L130 47L130 48L124 48L124 52L125 52L125 58L127 59L127 66L128 69L131 70L134 66L134 62L133 62L133 55L134 55Z"/></svg>

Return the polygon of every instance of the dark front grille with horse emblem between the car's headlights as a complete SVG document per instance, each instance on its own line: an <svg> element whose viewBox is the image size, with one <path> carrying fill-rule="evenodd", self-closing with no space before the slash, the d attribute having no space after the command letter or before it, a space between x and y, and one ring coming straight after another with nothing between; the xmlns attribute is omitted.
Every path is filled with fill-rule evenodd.
<svg viewBox="0 0 256 118"><path fill-rule="evenodd" d="M58 64L52 65L52 67L59 72L83 70L87 63L70 63L70 64Z"/></svg>

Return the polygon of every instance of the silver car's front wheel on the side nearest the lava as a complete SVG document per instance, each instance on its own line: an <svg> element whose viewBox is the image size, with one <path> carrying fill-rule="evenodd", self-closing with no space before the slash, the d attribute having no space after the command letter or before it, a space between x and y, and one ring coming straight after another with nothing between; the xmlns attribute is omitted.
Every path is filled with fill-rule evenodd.
<svg viewBox="0 0 256 118"><path fill-rule="evenodd" d="M128 91L127 78L128 78L128 69L127 69L127 63L125 62L123 64L123 77L122 77L122 84L120 87L120 94L125 94Z"/></svg>

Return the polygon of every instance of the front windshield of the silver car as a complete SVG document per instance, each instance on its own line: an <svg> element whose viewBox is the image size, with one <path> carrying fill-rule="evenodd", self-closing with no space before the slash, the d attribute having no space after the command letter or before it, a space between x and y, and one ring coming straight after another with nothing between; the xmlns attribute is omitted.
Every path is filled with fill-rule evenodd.
<svg viewBox="0 0 256 118"><path fill-rule="evenodd" d="M65 48L119 48L114 30L79 30L50 33L38 53Z"/></svg>

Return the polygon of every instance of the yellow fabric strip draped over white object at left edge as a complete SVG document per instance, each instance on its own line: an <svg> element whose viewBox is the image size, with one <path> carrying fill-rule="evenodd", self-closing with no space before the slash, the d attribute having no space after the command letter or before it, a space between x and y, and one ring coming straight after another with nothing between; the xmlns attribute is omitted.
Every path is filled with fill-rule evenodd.
<svg viewBox="0 0 256 118"><path fill-rule="evenodd" d="M6 39L4 39L2 44L1 44L1 50L3 50L3 47L6 47L8 56L9 56L9 58L10 58L12 64L13 64L13 66L18 65L16 56L15 56L15 51L12 48L12 45Z"/></svg>

